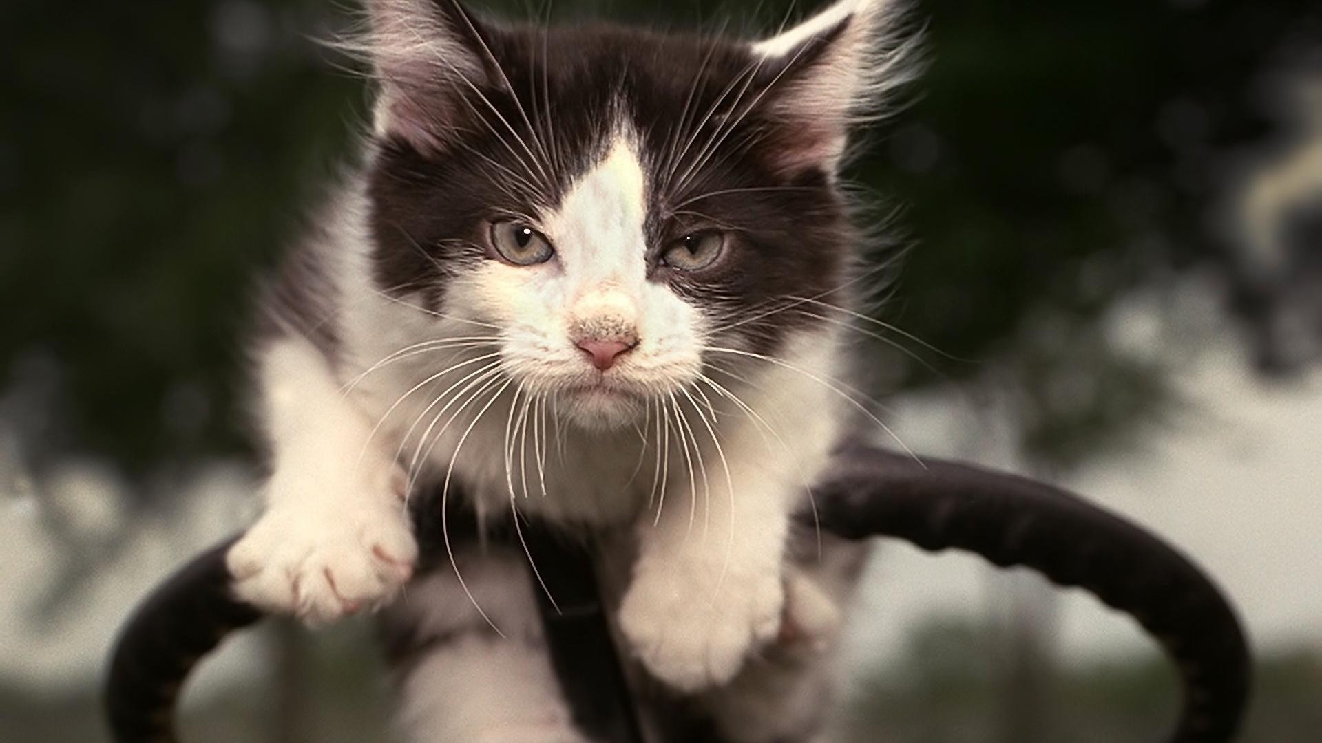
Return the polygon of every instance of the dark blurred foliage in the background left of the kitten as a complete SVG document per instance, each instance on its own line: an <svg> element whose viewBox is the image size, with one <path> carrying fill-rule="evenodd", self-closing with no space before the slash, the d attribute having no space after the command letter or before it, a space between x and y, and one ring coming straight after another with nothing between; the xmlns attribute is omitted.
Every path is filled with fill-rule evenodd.
<svg viewBox="0 0 1322 743"><path fill-rule="evenodd" d="M329 3L9 3L0 368L58 360L70 447L233 450L255 276L348 148Z"/></svg>

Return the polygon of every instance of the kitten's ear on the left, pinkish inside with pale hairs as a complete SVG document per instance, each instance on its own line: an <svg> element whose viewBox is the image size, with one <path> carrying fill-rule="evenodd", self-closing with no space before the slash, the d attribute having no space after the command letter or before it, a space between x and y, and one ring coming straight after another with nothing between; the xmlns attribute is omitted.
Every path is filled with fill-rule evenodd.
<svg viewBox="0 0 1322 743"><path fill-rule="evenodd" d="M488 29L456 0L368 0L357 42L379 86L373 128L420 152L440 152L468 112L465 95L489 82Z"/></svg>

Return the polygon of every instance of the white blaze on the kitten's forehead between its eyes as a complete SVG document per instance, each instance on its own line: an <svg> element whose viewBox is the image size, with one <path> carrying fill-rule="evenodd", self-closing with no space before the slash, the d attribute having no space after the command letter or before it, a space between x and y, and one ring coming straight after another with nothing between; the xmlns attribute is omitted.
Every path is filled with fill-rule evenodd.
<svg viewBox="0 0 1322 743"><path fill-rule="evenodd" d="M635 141L627 130L616 134L547 219L566 275L580 286L645 278L646 178Z"/></svg>

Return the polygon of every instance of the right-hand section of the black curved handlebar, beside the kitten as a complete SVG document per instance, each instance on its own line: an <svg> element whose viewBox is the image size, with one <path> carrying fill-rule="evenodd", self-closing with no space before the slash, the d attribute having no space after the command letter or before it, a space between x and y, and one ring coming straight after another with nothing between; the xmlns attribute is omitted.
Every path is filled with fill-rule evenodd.
<svg viewBox="0 0 1322 743"><path fill-rule="evenodd" d="M839 451L813 493L826 531L969 551L1087 590L1133 616L1178 666L1171 743L1222 743L1239 728L1251 678L1240 621L1211 579L1142 528L1035 480L858 446Z"/></svg>

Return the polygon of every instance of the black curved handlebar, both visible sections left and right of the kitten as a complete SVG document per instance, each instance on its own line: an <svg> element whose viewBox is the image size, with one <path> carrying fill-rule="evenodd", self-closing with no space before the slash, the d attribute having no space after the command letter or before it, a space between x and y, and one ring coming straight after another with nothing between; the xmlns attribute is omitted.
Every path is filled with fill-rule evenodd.
<svg viewBox="0 0 1322 743"><path fill-rule="evenodd" d="M816 516L850 539L895 537L957 549L1080 587L1133 616L1177 664L1183 710L1170 743L1232 740L1249 687L1249 650L1227 599L1187 558L1144 529L1025 477L863 446L838 451L813 488ZM227 541L197 557L137 608L106 681L118 743L173 742L178 689L219 640L260 613L237 602ZM608 640L604 640L608 641Z"/></svg>

